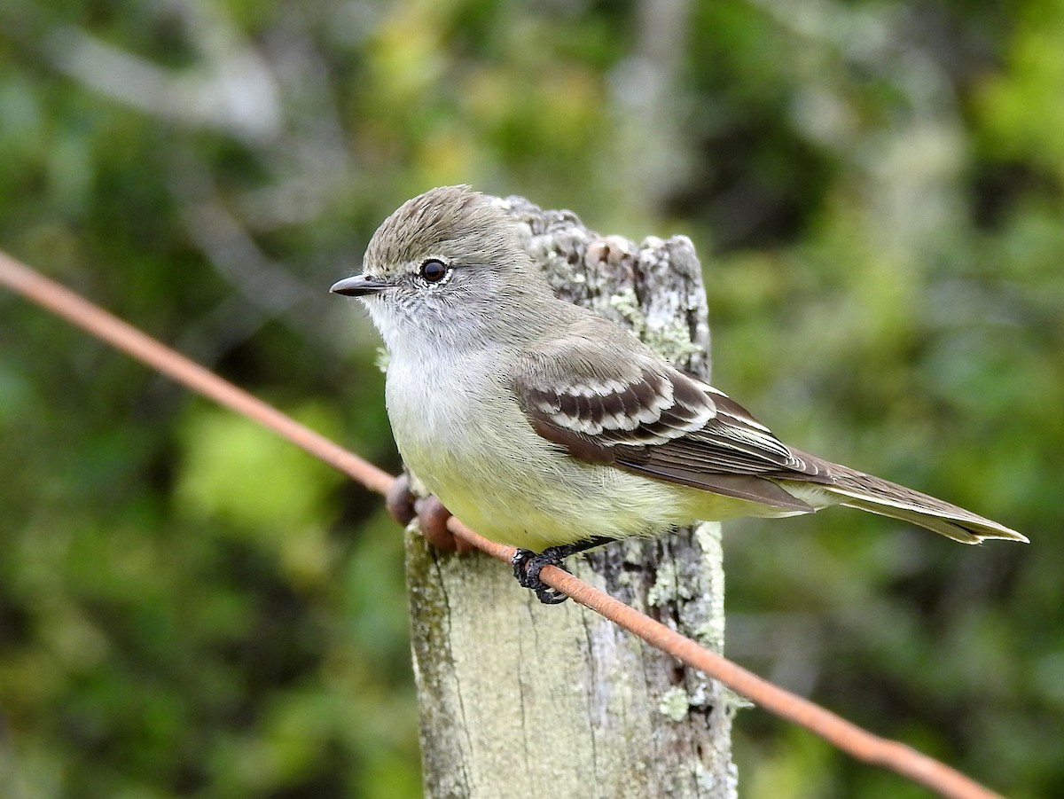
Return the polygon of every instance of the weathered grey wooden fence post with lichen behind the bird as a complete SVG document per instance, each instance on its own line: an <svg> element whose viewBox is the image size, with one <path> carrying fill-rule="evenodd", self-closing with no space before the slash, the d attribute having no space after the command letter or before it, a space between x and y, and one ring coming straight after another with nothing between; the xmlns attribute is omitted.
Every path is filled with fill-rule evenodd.
<svg viewBox="0 0 1064 799"><path fill-rule="evenodd" d="M522 223L559 297L710 377L701 268L686 237L635 245L599 236L569 212L518 197L499 203ZM427 796L735 796L725 688L573 602L541 605L497 561L439 552L415 528L406 579ZM569 564L724 646L719 525L612 544Z"/></svg>

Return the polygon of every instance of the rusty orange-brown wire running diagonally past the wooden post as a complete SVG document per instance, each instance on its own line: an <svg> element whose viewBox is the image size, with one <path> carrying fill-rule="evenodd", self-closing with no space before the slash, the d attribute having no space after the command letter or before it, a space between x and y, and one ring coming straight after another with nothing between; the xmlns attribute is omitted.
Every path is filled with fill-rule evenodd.
<svg viewBox="0 0 1064 799"><path fill-rule="evenodd" d="M367 488L387 494L393 486L395 478L392 475L2 251L0 283L194 392L254 419ZM509 563L513 557L513 547L478 535L454 517L448 519L447 528L500 561ZM764 710L804 727L857 760L895 771L948 799L1002 799L999 794L933 758L870 733L808 699L774 685L563 569L548 566L541 577L552 588L567 594L651 646L705 672Z"/></svg>

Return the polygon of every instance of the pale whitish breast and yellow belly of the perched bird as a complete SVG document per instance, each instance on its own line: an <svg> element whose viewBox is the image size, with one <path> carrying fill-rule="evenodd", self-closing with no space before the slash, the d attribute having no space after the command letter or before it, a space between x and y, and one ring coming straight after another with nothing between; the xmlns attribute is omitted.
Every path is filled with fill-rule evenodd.
<svg viewBox="0 0 1064 799"><path fill-rule="evenodd" d="M394 360L388 416L406 466L482 535L541 551L750 513L739 500L568 455L532 429L502 378L463 368L456 381L435 364Z"/></svg>

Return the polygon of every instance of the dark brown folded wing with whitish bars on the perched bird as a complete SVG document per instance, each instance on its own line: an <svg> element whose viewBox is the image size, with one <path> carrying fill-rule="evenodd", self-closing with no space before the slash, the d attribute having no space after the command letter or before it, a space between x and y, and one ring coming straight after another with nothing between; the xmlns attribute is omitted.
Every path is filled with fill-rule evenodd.
<svg viewBox="0 0 1064 799"><path fill-rule="evenodd" d="M514 396L532 428L573 457L813 510L766 478L829 481L817 461L799 457L738 403L649 351L625 355L594 338L558 339L515 364Z"/></svg>

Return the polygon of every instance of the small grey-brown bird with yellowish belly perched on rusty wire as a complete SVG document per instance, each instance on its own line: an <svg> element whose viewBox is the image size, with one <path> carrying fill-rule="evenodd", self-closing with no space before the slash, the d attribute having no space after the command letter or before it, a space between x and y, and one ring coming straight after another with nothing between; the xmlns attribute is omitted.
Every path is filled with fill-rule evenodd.
<svg viewBox="0 0 1064 799"><path fill-rule="evenodd" d="M559 300L517 222L467 186L406 201L332 286L365 304L387 347L399 452L447 509L518 548L541 601L548 564L698 520L834 504L963 544L1028 539L926 494L784 445L735 401L638 338Z"/></svg>

